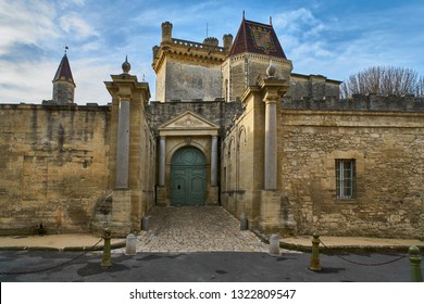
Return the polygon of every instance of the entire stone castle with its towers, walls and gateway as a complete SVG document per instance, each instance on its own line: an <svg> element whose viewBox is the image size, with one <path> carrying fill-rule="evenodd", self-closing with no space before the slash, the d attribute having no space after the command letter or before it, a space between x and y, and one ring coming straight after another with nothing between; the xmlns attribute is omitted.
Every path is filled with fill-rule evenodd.
<svg viewBox="0 0 424 304"><path fill-rule="evenodd" d="M164 22L152 53L157 101L125 60L110 104L77 105L65 53L52 100L0 104L0 233L126 236L154 206L222 205L264 233L424 238L423 100L339 100L271 21L223 47Z"/></svg>

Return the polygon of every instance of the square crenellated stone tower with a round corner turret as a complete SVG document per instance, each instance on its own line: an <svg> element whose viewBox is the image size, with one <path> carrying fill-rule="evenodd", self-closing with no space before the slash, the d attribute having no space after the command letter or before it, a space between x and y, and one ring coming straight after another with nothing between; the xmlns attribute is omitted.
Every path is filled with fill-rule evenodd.
<svg viewBox="0 0 424 304"><path fill-rule="evenodd" d="M172 29L172 23L162 23L161 45L153 47L157 100L222 98L221 65L228 54L232 37L226 36L222 48L213 37L205 38L202 43L173 38Z"/></svg>

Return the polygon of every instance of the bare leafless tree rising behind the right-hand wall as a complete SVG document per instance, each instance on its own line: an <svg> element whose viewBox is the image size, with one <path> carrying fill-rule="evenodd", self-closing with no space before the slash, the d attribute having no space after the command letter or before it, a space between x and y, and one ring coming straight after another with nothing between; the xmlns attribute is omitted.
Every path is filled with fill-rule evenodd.
<svg viewBox="0 0 424 304"><path fill-rule="evenodd" d="M340 86L341 98L352 94L423 96L424 78L411 68L373 66L351 75Z"/></svg>

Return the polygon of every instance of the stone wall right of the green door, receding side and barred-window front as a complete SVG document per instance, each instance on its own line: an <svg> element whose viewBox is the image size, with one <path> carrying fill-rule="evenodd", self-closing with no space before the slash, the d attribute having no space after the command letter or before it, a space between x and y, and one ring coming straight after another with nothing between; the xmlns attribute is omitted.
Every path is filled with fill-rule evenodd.
<svg viewBox="0 0 424 304"><path fill-rule="evenodd" d="M421 99L284 98L277 130L278 189L274 193L280 194L270 199L261 192L263 96L258 89L249 90L252 98L244 101L245 112L222 143L221 199L225 208L238 218L246 216L250 229L279 218L275 230L283 235L319 231L424 238ZM340 159L356 161L356 191L349 200L336 194L336 160Z"/></svg>

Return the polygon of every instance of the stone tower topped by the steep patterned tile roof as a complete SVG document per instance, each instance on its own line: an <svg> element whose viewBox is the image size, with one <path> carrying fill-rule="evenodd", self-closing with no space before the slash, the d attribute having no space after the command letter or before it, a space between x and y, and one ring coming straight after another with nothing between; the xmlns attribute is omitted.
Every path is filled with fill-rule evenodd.
<svg viewBox="0 0 424 304"><path fill-rule="evenodd" d="M265 77L270 62L276 77L290 79L292 64L287 60L271 21L267 25L244 17L222 66L225 100L238 100L249 86L258 85Z"/></svg>

